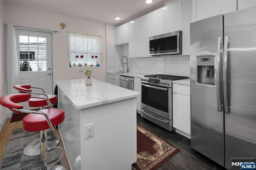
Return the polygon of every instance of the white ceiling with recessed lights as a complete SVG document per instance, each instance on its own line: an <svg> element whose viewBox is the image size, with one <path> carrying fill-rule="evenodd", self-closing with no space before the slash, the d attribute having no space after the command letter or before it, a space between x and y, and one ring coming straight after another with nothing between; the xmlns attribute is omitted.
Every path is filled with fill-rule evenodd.
<svg viewBox="0 0 256 170"><path fill-rule="evenodd" d="M17 6L54 12L98 22L122 25L164 6L170 0L5 0ZM120 16L121 20L115 20Z"/></svg>

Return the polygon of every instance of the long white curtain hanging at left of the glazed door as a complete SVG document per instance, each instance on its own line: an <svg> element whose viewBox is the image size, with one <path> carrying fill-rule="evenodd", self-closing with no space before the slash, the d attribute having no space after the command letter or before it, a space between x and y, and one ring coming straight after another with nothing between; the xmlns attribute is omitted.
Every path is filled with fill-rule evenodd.
<svg viewBox="0 0 256 170"><path fill-rule="evenodd" d="M20 84L20 67L18 65L15 29L12 23L8 23L6 27L5 94L8 95L17 93L17 91L12 86Z"/></svg>

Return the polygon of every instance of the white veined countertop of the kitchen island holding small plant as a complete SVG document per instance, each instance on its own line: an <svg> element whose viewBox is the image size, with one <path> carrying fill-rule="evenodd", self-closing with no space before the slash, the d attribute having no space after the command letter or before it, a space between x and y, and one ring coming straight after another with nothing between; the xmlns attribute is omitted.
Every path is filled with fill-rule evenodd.
<svg viewBox="0 0 256 170"><path fill-rule="evenodd" d="M84 109L106 103L137 97L140 93L124 89L109 83L92 79L92 85L86 86L86 79L55 81L75 109Z"/></svg>

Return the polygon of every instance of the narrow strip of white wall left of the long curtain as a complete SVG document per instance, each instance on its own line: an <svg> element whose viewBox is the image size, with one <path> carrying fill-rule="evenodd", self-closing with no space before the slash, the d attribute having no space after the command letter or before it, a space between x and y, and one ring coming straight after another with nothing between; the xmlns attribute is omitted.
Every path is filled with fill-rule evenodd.
<svg viewBox="0 0 256 170"><path fill-rule="evenodd" d="M4 60L4 1L0 0L0 96L4 95L5 60ZM0 123L6 121L6 108L0 105Z"/></svg>

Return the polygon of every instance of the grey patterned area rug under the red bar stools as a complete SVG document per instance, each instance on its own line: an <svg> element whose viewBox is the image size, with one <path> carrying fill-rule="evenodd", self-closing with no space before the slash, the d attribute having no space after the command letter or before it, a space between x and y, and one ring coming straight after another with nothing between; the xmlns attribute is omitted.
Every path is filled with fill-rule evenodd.
<svg viewBox="0 0 256 170"><path fill-rule="evenodd" d="M50 132L48 135L52 135ZM40 155L38 156L26 156L22 153L23 148L32 140L38 138L40 132L26 132L23 128L15 129L12 131L10 141L4 154L1 170L40 170L41 162ZM58 160L60 154L58 150L51 150L48 152L48 164ZM61 165L58 162L58 165Z"/></svg>

